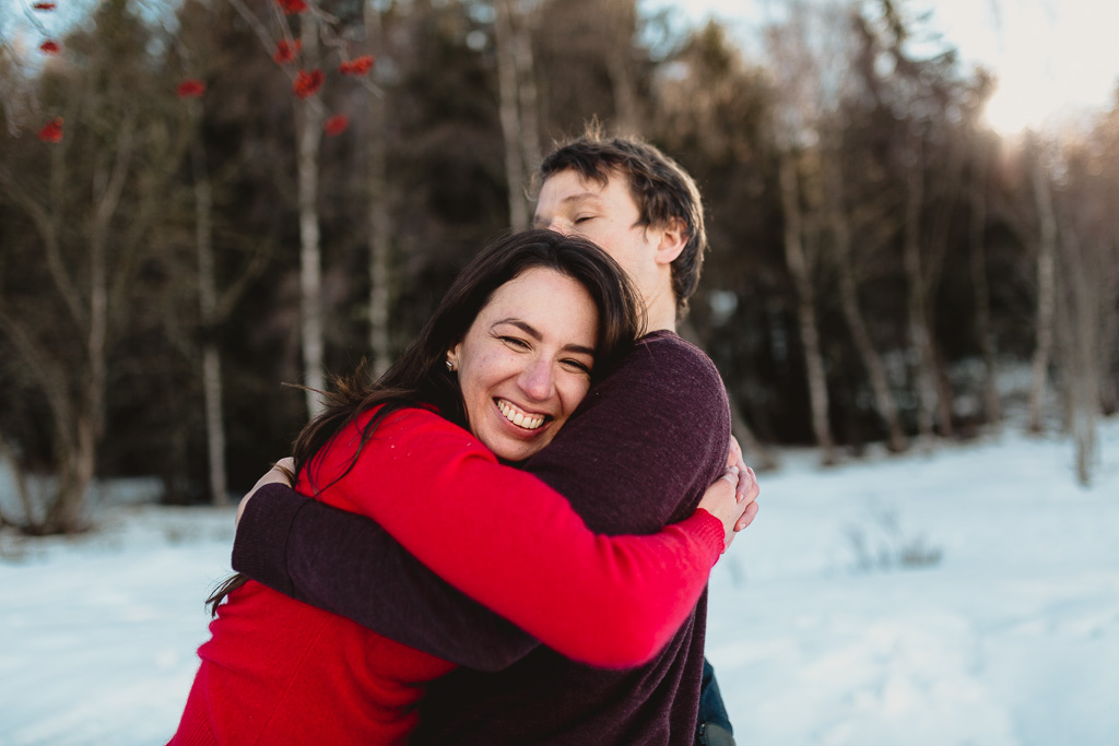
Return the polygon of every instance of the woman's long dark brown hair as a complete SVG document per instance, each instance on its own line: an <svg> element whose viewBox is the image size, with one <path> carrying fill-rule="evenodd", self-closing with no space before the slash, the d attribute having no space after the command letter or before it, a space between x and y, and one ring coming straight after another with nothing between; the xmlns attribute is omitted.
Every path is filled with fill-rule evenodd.
<svg viewBox="0 0 1119 746"><path fill-rule="evenodd" d="M380 405L363 427L355 461L382 419L403 407L434 407L467 427L458 376L446 369L446 352L466 337L498 287L536 267L571 277L591 295L599 311L592 381L612 370L645 330L645 302L622 268L585 238L538 229L505 234L459 273L420 336L379 379L373 381L363 365L323 394L323 412L303 427L292 447L295 475L338 432ZM210 613L246 579L238 573L222 584L206 599Z"/></svg>

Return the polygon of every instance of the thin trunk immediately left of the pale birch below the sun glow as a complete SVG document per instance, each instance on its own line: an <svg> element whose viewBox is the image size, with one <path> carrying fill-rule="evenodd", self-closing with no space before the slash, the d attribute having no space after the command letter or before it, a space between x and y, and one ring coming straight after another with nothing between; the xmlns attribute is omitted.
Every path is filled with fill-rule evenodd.
<svg viewBox="0 0 1119 746"><path fill-rule="evenodd" d="M971 179L971 289L975 293L975 333L982 352L982 402L987 424L999 426L1003 407L998 398L998 378L995 362L995 338L990 330L990 286L987 282L987 169L990 149L977 136L975 148L976 172Z"/></svg>

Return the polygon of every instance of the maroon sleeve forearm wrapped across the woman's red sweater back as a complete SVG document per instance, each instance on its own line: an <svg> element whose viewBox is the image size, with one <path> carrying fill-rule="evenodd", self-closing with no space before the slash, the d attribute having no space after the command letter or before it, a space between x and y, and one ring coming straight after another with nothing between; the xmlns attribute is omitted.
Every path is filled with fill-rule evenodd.
<svg viewBox="0 0 1119 746"><path fill-rule="evenodd" d="M375 521L284 484L266 484L248 501L233 566L298 601L478 671L507 668L539 644L432 573ZM416 630L421 639L412 636Z"/></svg>

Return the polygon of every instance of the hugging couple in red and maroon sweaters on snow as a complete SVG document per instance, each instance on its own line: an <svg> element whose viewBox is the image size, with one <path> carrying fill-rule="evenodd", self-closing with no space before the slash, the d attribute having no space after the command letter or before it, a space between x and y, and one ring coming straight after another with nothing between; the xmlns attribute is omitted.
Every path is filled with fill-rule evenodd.
<svg viewBox="0 0 1119 746"><path fill-rule="evenodd" d="M734 743L706 584L759 490L675 332L699 192L594 131L538 183L242 500L171 744Z"/></svg>

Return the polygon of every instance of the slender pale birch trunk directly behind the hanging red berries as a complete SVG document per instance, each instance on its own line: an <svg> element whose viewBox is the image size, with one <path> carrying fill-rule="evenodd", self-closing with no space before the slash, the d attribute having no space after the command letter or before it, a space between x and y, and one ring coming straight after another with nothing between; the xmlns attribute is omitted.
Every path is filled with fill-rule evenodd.
<svg viewBox="0 0 1119 746"><path fill-rule="evenodd" d="M319 60L319 25L313 13L300 17L300 39L309 67ZM295 104L299 138L299 276L300 330L303 347L303 384L307 386L307 413L313 418L322 410L319 391L326 389L322 338L322 257L319 246L319 143L322 136L322 110L317 101Z"/></svg>

